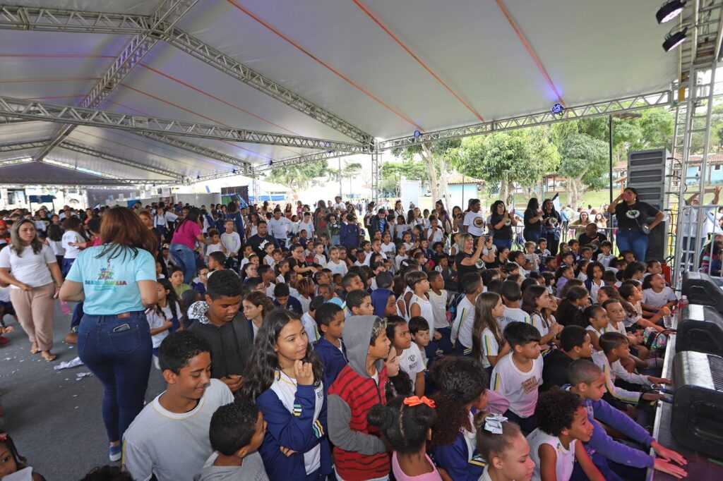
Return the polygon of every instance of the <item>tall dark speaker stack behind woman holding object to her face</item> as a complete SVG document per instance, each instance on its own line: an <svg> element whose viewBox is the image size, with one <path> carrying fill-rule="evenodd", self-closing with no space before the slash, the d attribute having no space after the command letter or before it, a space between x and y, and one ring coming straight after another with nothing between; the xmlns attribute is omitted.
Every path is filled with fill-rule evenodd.
<svg viewBox="0 0 723 481"><path fill-rule="evenodd" d="M665 208L665 185L669 174L666 149L638 150L628 152L628 187L638 191L638 199L659 211ZM646 224L653 221L650 217ZM650 231L647 260L661 260L667 252L667 222L660 222Z"/></svg>

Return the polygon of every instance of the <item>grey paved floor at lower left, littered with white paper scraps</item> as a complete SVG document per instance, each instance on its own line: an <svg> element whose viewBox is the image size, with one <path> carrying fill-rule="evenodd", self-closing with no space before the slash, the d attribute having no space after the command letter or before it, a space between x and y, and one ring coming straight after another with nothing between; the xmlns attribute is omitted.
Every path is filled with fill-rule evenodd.
<svg viewBox="0 0 723 481"><path fill-rule="evenodd" d="M0 402L5 409L1 430L12 436L20 454L48 481L80 480L93 467L111 464L100 415L100 381L93 376L77 378L77 373L90 372L85 365L53 369L77 356L75 346L63 342L70 316L61 314L56 301L53 352L58 359L53 363L30 354L30 342L14 319L5 316L5 323L15 332L7 334L10 342L0 346ZM163 389L160 371L151 368L146 399Z"/></svg>

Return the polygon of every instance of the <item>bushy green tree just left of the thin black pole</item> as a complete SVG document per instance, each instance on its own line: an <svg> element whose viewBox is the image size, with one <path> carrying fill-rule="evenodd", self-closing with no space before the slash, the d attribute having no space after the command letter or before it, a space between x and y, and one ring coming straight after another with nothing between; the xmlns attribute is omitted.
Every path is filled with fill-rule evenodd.
<svg viewBox="0 0 723 481"><path fill-rule="evenodd" d="M560 174L568 178L568 203L576 209L585 186L603 188L608 145L588 134L570 134L562 141Z"/></svg>

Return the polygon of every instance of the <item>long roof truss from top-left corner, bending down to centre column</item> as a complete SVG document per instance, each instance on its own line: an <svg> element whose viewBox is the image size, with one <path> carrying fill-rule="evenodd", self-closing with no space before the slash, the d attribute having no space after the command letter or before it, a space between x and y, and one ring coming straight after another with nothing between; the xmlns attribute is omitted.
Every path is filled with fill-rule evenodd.
<svg viewBox="0 0 723 481"><path fill-rule="evenodd" d="M176 0L177 3L178 0ZM163 4L173 3L169 0ZM78 12L69 9L46 9L30 6L0 6L0 28L10 30L43 30L52 32L123 33L144 35L153 33L153 41L163 40L223 73L254 87L299 112L314 118L360 144L371 144L374 139L367 132L348 123L328 110L301 97L278 82L241 64L187 32L174 27L175 20L158 22L153 17L132 14ZM177 18L176 18L177 20ZM133 41L132 41L133 43ZM129 44L130 45L130 44ZM105 76L104 76L105 77ZM98 82L103 85L103 82ZM87 106L87 105L83 105Z"/></svg>

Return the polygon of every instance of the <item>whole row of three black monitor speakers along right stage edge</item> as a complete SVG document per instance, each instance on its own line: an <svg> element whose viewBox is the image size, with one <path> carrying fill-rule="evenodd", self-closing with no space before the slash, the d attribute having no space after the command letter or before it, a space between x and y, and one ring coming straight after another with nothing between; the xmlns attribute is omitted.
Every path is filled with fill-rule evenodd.
<svg viewBox="0 0 723 481"><path fill-rule="evenodd" d="M683 274L675 339L670 431L683 446L723 459L723 292L709 276Z"/></svg>

